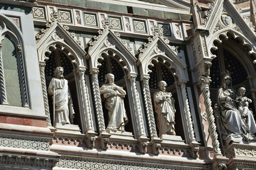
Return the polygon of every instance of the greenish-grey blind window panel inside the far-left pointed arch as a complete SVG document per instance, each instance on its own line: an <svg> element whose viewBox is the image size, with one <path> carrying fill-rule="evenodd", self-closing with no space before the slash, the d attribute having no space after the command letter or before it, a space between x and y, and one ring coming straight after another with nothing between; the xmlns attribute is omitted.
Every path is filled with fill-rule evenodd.
<svg viewBox="0 0 256 170"><path fill-rule="evenodd" d="M10 36L5 35L2 43L2 59L6 97L10 106L22 107L22 94L20 89L20 73L18 55L15 43Z"/></svg>

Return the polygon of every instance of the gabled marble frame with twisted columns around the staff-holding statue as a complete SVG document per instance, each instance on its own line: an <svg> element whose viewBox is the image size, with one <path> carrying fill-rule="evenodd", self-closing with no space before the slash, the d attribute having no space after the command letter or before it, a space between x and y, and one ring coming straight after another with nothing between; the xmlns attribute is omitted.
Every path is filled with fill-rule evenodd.
<svg viewBox="0 0 256 170"><path fill-rule="evenodd" d="M76 114L78 114L78 119L80 115L81 121L81 123L79 123L78 120L78 124L80 128L82 128L82 132L86 133L88 130L93 130L88 104L88 96L86 92L87 90L84 81L84 72L86 66L84 66L85 63L83 57L86 55L86 52L83 50L80 44L78 44L78 41L74 39L75 36L72 35L72 33L69 33L67 29L65 29L63 25L60 24L56 19L53 19L52 23L48 25L46 24L46 27L48 28L44 33L39 35L40 39L37 40L37 51L41 75L42 93L44 97L45 114L48 116L46 122L48 126L51 126L52 121L50 120L50 110L46 87L50 78L45 75L45 71L48 71L45 70L45 66L46 64L49 65L50 62L55 62L56 66L61 66L62 63L59 56L61 52L65 55L65 60L69 62L69 66L72 66L72 72L70 70L68 75L65 75L64 77L70 81L72 86L74 86L74 89L76 88L76 90L73 92L72 98L77 97L78 103L76 104L79 104L78 108L80 113L76 111L78 112ZM55 61L48 60L49 56L53 55L52 53L54 54ZM50 65L54 67L52 63ZM46 68L48 69L48 66ZM55 68L52 68L52 71L54 70Z"/></svg>

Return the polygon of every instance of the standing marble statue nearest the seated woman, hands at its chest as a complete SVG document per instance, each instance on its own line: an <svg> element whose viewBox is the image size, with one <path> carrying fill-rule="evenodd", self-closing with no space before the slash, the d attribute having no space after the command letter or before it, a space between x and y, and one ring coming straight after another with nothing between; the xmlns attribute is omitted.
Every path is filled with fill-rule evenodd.
<svg viewBox="0 0 256 170"><path fill-rule="evenodd" d="M176 135L175 133L175 100L170 92L166 92L167 83L161 81L158 83L159 90L154 92L155 112L157 113L157 125L159 136L163 134Z"/></svg>

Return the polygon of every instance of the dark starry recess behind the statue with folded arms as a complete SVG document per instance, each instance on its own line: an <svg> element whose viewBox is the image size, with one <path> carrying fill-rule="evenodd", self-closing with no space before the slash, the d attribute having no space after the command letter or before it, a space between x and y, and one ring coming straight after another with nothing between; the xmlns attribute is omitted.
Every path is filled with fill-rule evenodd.
<svg viewBox="0 0 256 170"><path fill-rule="evenodd" d="M114 84L117 86L123 87L123 90L126 91L126 95L124 100L124 107L128 118L128 123L124 126L124 130L127 132L131 132L134 135L133 132L133 125L132 125L132 117L131 117L131 111L129 106L129 97L128 97L128 89L127 84L125 82L125 71L122 68L121 64L116 61L116 59L113 58L113 52L108 51L109 55L102 54L102 57L104 60L100 61L101 66L99 67L99 74L98 74L98 80L99 80L99 87L102 86L102 84L105 84L105 76L108 73L111 73L114 75ZM105 120L105 127L108 127L108 110L105 106L105 102L102 102L102 110L103 110L103 116Z"/></svg>

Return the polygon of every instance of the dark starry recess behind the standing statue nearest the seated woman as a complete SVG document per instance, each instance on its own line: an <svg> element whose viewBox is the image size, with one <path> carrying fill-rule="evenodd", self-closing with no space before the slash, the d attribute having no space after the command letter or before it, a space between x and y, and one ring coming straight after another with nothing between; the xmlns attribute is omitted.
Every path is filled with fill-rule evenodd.
<svg viewBox="0 0 256 170"><path fill-rule="evenodd" d="M162 62L158 63L153 63L154 66L150 68L152 71L150 73L150 79L149 79L149 87L150 87L150 94L151 94L151 100L152 100L152 105L153 105L153 110L154 110L154 118L155 118L155 124L157 127L157 134L159 136L159 125L157 121L157 113L155 112L155 106L154 106L154 92L158 90L158 82L160 81L165 81L167 83L166 87L166 92L171 92L172 97L175 100L175 108L176 108L176 113L175 113L175 133L177 136L181 136L182 140L185 140L185 135L184 135L184 129L182 126L182 119L181 119L181 112L180 112L180 106L178 103L178 95L176 91L176 87L174 85L175 79L172 74L172 72L166 67L166 65Z"/></svg>

